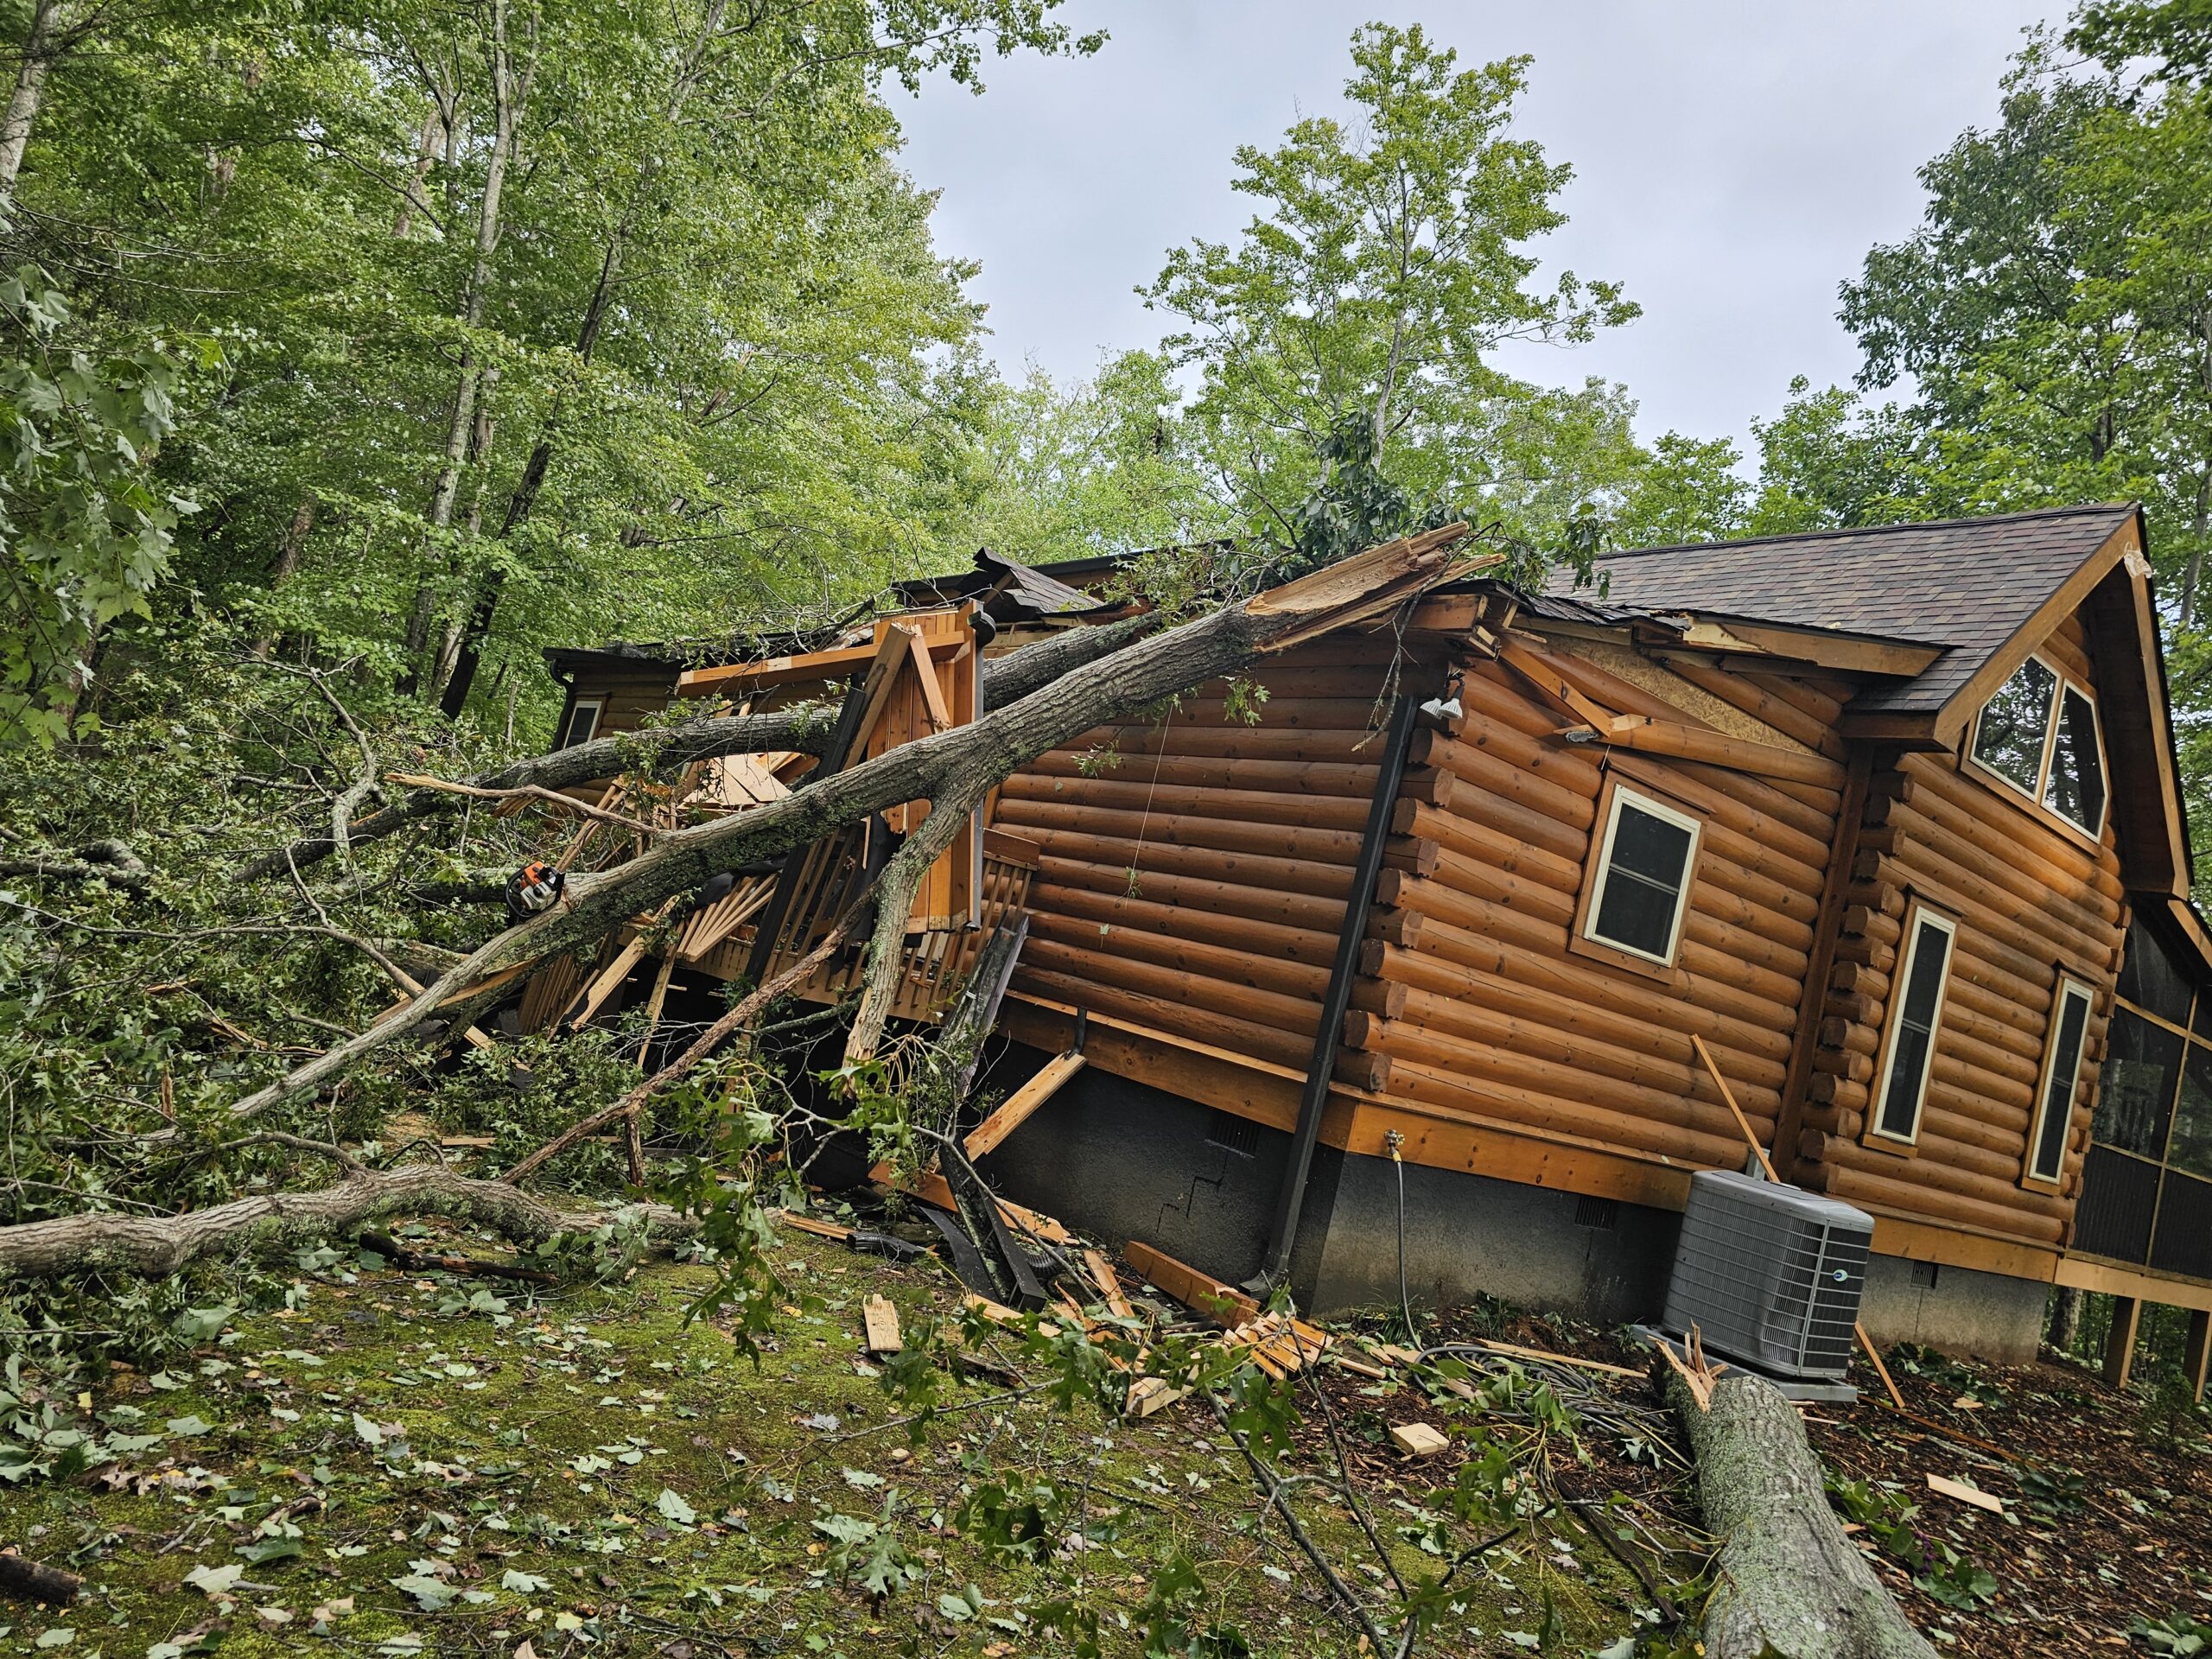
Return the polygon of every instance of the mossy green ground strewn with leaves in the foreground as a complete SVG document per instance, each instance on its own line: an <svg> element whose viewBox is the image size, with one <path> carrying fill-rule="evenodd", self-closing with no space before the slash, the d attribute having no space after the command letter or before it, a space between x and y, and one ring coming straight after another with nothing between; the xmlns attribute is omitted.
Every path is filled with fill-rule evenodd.
<svg viewBox="0 0 2212 1659"><path fill-rule="evenodd" d="M949 1411L916 1429L872 1376L860 1298L887 1294L911 1327L951 1314L951 1276L803 1234L785 1234L779 1261L794 1303L759 1367L688 1318L699 1267L544 1294L502 1285L502 1310L482 1279L305 1279L294 1307L155 1378L117 1374L91 1400L146 1413L131 1425L126 1411L126 1429L168 1427L159 1444L108 1478L0 1489L0 1544L86 1579L62 1613L0 1604L13 1624L0 1646L1002 1659L1064 1652L1040 1608L1073 1599L1099 1610L1106 1652L1139 1652L1155 1568L1181 1553L1206 1586L1194 1624L1234 1626L1252 1652L1358 1648L1201 1407L1133 1422L980 1380L953 1385ZM1374 1420L1347 1431L1371 1438L1387 1416L1376 1398ZM960 1495L1013 1478L1053 1484L1091 1546L1024 1562L962 1537ZM1438 1559L1396 1533L1405 1502L1449 1478L1447 1453L1367 1493L1409 1575ZM1301 1511L1374 1588L1347 1513L1314 1489ZM874 1540L841 1557L854 1522L896 1537L911 1577L894 1595L858 1582ZM283 1555L274 1540L292 1531L299 1553ZM274 1542L268 1559L241 1555L257 1542ZM1632 1597L1593 1546L1524 1533L1489 1564L1462 1577L1420 1652L1524 1650L1546 1599L1559 1652L1628 1628ZM243 1573L221 1595L188 1582L232 1566Z"/></svg>

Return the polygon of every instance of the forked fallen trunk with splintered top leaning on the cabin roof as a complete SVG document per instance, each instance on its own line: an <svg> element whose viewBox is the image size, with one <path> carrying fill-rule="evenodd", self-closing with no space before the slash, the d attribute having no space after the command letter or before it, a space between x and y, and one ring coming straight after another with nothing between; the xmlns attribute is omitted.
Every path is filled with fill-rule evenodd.
<svg viewBox="0 0 2212 1659"><path fill-rule="evenodd" d="M1429 584L1458 575L1451 549L1464 524L1405 538L1270 588L1166 633L1139 637L1104 659L1060 672L1013 703L969 726L887 750L781 801L712 818L661 838L650 852L608 872L571 876L560 905L507 929L389 1020L330 1048L232 1106L239 1117L312 1095L356 1062L414 1033L434 1013L467 1026L502 969L604 940L633 916L701 887L754 858L790 852L874 812L927 801L929 816L876 880L876 931L849 1057L874 1051L905 945L905 918L929 863L958 834L960 818L993 785L1046 750L1190 686L1234 675L1265 653L1394 611ZM1493 555L1486 562L1495 562ZM1104 630L1099 630L1104 633ZM677 728L681 730L681 728Z"/></svg>

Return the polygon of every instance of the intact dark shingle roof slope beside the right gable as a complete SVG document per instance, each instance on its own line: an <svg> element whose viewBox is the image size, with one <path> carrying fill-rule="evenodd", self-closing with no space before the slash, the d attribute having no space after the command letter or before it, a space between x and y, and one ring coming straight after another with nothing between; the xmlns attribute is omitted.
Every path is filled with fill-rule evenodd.
<svg viewBox="0 0 2212 1659"><path fill-rule="evenodd" d="M1918 679L1869 686L1851 703L1933 712L2132 515L2132 504L2062 507L1652 546L1604 555L1604 593L1577 597L1944 646ZM1546 591L1575 595L1573 573L1553 575Z"/></svg>

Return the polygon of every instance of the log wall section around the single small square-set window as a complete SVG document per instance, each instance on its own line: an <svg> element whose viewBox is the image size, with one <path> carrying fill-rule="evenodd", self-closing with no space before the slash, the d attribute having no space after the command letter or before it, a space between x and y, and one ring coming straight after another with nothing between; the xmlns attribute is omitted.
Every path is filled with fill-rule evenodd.
<svg viewBox="0 0 2212 1659"><path fill-rule="evenodd" d="M1606 708L1699 723L1599 666L1553 664ZM1836 752L1832 723L1785 701L1776 679L1699 684ZM1347 1042L1387 1055L1389 1091L1431 1108L1739 1166L1743 1137L1690 1037L1710 1044L1754 1130L1772 1137L1836 792L1566 745L1555 737L1573 723L1566 710L1498 664L1471 666L1460 701L1455 730L1413 745L1449 787L1400 805L1400 825L1438 847L1436 865L1385 874L1378 894L1418 925L1400 929L1405 942L1367 947L1369 971L1409 995L1396 1015L1356 1011ZM1674 984L1568 949L1608 770L1703 823Z"/></svg>

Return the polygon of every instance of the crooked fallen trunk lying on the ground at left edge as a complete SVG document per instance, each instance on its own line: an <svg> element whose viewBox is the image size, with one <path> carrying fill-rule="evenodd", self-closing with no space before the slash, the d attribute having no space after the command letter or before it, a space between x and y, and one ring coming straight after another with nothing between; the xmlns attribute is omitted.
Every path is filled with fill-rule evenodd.
<svg viewBox="0 0 2212 1659"><path fill-rule="evenodd" d="M637 1206L653 1232L681 1237L692 1221L664 1206ZM334 1232L398 1214L440 1214L491 1228L513 1243L591 1232L615 1212L555 1210L504 1181L476 1181L442 1164L354 1170L314 1192L263 1192L175 1217L73 1214L0 1228L0 1281L119 1270L161 1279L212 1250L252 1243L294 1250Z"/></svg>

